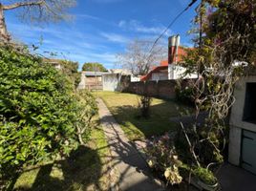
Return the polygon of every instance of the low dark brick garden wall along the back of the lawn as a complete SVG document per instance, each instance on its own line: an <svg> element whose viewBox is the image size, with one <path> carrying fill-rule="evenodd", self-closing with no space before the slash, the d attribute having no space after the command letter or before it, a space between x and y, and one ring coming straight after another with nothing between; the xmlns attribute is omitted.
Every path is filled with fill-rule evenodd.
<svg viewBox="0 0 256 191"><path fill-rule="evenodd" d="M185 86L188 80L182 80L182 86ZM146 90L149 96L155 96L160 98L170 98L176 97L175 87L177 85L177 80L159 80L159 81L138 81L131 82L124 92L132 94L142 94Z"/></svg>

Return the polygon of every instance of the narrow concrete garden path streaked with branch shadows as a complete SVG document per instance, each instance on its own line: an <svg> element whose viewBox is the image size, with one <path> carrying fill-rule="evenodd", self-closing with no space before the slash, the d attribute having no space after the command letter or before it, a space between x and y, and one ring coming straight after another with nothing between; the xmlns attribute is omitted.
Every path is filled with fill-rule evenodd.
<svg viewBox="0 0 256 191"><path fill-rule="evenodd" d="M97 99L99 117L111 150L112 166L118 173L115 187L126 191L162 191L160 182L150 176L145 160L125 137L115 118L101 99Z"/></svg>

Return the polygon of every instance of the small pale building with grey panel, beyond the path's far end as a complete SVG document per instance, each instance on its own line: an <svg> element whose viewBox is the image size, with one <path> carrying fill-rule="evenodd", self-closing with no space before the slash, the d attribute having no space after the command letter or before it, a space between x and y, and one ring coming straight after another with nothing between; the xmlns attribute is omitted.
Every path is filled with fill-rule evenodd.
<svg viewBox="0 0 256 191"><path fill-rule="evenodd" d="M88 90L102 90L102 75L108 74L105 72L81 72L81 81L78 85L78 89Z"/></svg>

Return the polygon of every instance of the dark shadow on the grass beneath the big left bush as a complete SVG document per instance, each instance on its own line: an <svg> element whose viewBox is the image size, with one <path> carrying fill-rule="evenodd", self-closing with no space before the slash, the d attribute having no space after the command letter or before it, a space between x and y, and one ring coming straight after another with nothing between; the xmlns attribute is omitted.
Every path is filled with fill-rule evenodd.
<svg viewBox="0 0 256 191"><path fill-rule="evenodd" d="M30 188L20 185L15 190L86 190L92 185L94 189L101 190L101 162L96 150L89 147L79 146L69 158L39 168Z"/></svg>

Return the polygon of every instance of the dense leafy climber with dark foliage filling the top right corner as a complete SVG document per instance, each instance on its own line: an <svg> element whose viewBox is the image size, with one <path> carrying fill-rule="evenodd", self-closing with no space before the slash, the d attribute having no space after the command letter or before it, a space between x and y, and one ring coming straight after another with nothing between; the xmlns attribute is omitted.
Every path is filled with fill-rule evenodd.
<svg viewBox="0 0 256 191"><path fill-rule="evenodd" d="M203 73L204 66L210 67L216 46L224 48L217 56L223 57L226 67L234 64L232 61L253 63L256 57L255 4L255 0L203 0L193 21L195 28L191 30L196 34L194 41L199 49L189 51L194 57L188 56L189 67L194 65L197 70L200 65L199 72Z"/></svg>

